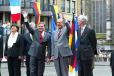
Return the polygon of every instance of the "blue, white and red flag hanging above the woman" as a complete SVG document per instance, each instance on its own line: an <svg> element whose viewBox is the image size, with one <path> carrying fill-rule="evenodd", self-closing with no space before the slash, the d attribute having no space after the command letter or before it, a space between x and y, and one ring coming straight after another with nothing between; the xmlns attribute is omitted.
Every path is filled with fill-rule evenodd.
<svg viewBox="0 0 114 76"><path fill-rule="evenodd" d="M21 18L21 0L10 0L10 10L12 22L17 22Z"/></svg>

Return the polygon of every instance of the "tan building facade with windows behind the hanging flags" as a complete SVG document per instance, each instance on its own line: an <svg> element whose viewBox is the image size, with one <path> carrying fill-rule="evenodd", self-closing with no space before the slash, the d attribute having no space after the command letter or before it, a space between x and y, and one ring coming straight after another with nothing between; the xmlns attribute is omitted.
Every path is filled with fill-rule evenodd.
<svg viewBox="0 0 114 76"><path fill-rule="evenodd" d="M72 12L79 14L79 3L80 0L21 0L22 10L27 10L29 12L29 21L35 21L33 14L33 2L39 1L41 3L41 21L46 23L46 28L50 28L51 24L51 7L56 4L59 7L59 12L63 12L65 19L72 20ZM0 23L3 24L6 21L12 22L10 17L9 0L0 0ZM23 19L21 18L21 23Z"/></svg>

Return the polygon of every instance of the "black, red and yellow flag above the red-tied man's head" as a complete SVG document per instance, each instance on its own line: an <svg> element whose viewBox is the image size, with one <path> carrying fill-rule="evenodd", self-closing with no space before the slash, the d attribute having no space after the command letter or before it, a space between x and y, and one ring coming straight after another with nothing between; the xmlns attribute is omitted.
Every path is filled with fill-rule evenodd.
<svg viewBox="0 0 114 76"><path fill-rule="evenodd" d="M36 25L38 26L38 24L40 23L40 14L41 14L40 2L34 2L33 11L35 14L35 22L36 22Z"/></svg>

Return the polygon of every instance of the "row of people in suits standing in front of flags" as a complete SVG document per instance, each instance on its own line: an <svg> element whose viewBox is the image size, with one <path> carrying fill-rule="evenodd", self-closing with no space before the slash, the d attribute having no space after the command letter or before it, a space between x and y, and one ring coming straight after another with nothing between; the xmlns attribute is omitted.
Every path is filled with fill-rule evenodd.
<svg viewBox="0 0 114 76"><path fill-rule="evenodd" d="M26 60L27 76L43 76L45 61L54 61L57 76L68 76L73 52L68 44L70 25L61 17L54 32L45 31L45 23L36 27L28 22L28 13L23 12L27 33L20 34L19 26L12 24L5 41L4 56L8 63L9 76L21 76L21 61ZM78 17L79 46L75 50L78 60L78 75L93 76L94 55L97 55L95 31L88 27L84 15ZM24 30L24 29L23 29ZM54 35L52 37L52 34ZM53 38L53 47L51 41ZM0 35L0 61L3 58L3 36ZM47 52L47 57L46 56Z"/></svg>

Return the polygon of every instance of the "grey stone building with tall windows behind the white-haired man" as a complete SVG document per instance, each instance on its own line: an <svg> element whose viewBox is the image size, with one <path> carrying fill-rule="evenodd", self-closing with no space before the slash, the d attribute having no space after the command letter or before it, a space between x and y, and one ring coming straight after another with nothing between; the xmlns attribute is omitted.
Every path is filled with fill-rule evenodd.
<svg viewBox="0 0 114 76"><path fill-rule="evenodd" d="M96 31L98 49L114 50L114 0L81 0L81 13Z"/></svg>

